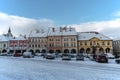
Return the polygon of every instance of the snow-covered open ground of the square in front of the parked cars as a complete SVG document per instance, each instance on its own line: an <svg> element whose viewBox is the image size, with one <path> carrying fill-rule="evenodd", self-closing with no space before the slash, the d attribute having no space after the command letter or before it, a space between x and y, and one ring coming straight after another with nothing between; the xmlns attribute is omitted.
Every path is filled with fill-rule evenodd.
<svg viewBox="0 0 120 80"><path fill-rule="evenodd" d="M120 80L120 64L0 56L0 80Z"/></svg>

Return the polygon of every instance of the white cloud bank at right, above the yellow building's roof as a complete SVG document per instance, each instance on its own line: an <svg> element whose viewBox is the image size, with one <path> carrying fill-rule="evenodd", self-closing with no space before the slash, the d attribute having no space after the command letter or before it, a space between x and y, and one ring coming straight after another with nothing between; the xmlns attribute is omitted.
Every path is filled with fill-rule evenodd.
<svg viewBox="0 0 120 80"><path fill-rule="evenodd" d="M98 31L113 38L120 35L120 18L108 21L94 21L81 24L72 24L70 26L75 27L77 32Z"/></svg>

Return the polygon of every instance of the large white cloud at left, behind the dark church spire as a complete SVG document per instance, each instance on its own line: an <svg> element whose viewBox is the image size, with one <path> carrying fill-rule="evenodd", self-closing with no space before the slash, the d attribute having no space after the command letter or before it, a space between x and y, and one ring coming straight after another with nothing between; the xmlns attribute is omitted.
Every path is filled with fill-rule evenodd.
<svg viewBox="0 0 120 80"><path fill-rule="evenodd" d="M54 26L50 19L31 19L0 12L0 34L7 33L9 26L14 35L29 34L31 30Z"/></svg>

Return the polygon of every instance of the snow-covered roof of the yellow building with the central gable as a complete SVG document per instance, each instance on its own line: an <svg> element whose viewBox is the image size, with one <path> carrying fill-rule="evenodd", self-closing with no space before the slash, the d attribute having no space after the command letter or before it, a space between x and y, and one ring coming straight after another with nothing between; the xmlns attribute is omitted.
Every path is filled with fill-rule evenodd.
<svg viewBox="0 0 120 80"><path fill-rule="evenodd" d="M78 32L78 40L89 40L89 39L94 38L94 37L96 37L100 40L112 40L111 38L109 38L101 33L94 32L94 31Z"/></svg>

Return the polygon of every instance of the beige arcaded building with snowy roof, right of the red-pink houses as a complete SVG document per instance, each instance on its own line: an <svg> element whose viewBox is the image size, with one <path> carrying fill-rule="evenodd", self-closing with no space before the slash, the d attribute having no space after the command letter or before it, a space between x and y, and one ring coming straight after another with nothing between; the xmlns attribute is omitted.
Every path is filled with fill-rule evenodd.
<svg viewBox="0 0 120 80"><path fill-rule="evenodd" d="M28 49L33 53L47 52L47 34L34 31L28 37Z"/></svg>

